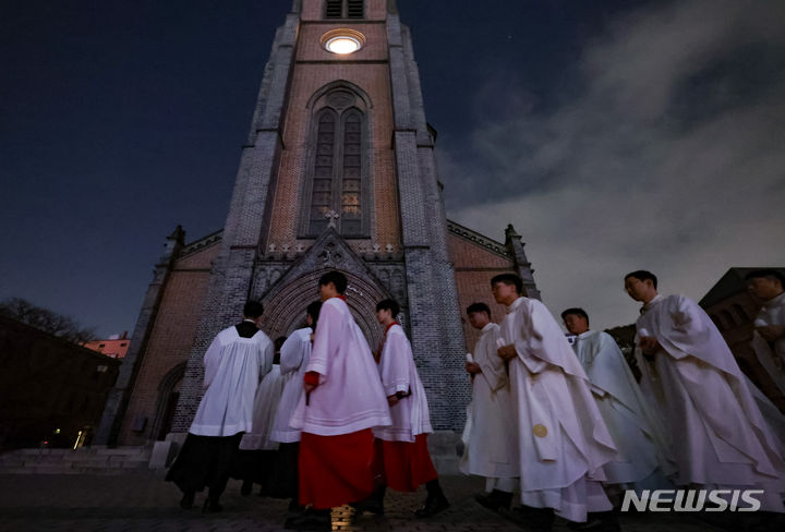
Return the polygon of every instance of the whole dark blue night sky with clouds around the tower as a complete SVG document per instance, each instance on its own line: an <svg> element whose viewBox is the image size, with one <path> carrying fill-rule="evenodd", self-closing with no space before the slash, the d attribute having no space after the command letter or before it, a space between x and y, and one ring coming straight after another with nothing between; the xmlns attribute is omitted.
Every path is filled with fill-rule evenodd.
<svg viewBox="0 0 785 532"><path fill-rule="evenodd" d="M290 0L0 7L0 299L132 330L164 238L221 228ZM630 323L785 265L783 2L399 0L448 216L528 242L545 303ZM197 310L194 310L197 312Z"/></svg>

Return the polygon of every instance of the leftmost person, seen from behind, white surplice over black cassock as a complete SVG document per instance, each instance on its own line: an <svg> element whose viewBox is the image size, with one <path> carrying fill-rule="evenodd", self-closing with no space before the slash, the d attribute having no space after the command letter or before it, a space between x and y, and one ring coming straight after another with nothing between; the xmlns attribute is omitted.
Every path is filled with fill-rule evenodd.
<svg viewBox="0 0 785 532"><path fill-rule="evenodd" d="M253 430L256 388L273 365L273 342L259 328L264 309L249 301L241 324L221 330L204 355L204 388L189 434L167 481L183 492L182 508L209 487L205 511L220 511L232 462L245 432Z"/></svg>

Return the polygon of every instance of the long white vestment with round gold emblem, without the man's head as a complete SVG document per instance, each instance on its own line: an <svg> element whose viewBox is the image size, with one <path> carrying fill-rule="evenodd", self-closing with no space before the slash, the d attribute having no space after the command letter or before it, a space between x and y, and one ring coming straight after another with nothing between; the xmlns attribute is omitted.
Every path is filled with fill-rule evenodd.
<svg viewBox="0 0 785 532"><path fill-rule="evenodd" d="M570 521L612 509L600 481L616 448L572 348L540 301L518 298L502 324L518 427L521 503Z"/></svg>

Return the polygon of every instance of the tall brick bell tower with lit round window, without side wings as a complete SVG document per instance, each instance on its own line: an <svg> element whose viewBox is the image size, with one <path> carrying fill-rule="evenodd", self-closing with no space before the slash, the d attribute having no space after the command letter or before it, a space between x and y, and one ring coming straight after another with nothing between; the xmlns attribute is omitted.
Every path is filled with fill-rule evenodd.
<svg viewBox="0 0 785 532"><path fill-rule="evenodd" d="M202 358L244 302L275 339L302 326L329 269L375 348L395 298L434 428L463 424L469 386L448 228L409 29L391 0L295 0L279 27L185 365L172 432L202 396Z"/></svg>

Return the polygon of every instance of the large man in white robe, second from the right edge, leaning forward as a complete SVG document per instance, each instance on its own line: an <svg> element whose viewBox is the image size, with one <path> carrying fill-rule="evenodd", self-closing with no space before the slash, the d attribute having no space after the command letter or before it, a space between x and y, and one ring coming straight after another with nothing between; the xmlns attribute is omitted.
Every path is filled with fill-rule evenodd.
<svg viewBox="0 0 785 532"><path fill-rule="evenodd" d="M684 295L662 297L638 270L625 289L643 303L636 323L641 389L665 413L678 485L762 489L765 511L785 511L785 462L747 379L705 312Z"/></svg>

